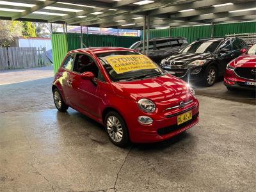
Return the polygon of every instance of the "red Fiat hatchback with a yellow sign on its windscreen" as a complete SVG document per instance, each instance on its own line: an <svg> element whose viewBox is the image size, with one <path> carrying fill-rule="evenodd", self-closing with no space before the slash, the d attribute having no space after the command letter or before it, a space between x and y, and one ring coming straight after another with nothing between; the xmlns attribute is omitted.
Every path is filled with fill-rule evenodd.
<svg viewBox="0 0 256 192"><path fill-rule="evenodd" d="M132 49L68 52L52 93L59 111L70 106L93 118L120 147L129 141L166 140L198 122L199 103L193 89Z"/></svg>

